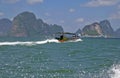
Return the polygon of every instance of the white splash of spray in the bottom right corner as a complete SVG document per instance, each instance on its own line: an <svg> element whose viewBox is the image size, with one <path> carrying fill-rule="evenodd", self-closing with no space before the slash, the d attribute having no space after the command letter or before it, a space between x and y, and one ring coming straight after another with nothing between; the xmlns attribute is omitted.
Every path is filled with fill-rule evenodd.
<svg viewBox="0 0 120 78"><path fill-rule="evenodd" d="M113 65L109 73L111 78L120 78L120 64Z"/></svg>

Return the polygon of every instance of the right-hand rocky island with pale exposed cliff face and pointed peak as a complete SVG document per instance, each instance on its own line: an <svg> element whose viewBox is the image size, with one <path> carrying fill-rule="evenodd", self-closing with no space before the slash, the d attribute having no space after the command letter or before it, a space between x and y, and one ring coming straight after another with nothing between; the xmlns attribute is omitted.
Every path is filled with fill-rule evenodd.
<svg viewBox="0 0 120 78"><path fill-rule="evenodd" d="M82 29L83 37L114 37L113 28L108 20L86 25Z"/></svg>

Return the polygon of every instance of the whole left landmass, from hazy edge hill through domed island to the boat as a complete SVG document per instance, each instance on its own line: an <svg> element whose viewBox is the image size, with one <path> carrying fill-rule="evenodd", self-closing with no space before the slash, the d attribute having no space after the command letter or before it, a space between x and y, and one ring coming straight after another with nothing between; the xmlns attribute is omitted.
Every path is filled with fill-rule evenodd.
<svg viewBox="0 0 120 78"><path fill-rule="evenodd" d="M9 19L0 20L0 36L9 37L40 37L50 36L57 32L63 32L62 26L49 25L42 19L37 19L31 12L23 12Z"/></svg>

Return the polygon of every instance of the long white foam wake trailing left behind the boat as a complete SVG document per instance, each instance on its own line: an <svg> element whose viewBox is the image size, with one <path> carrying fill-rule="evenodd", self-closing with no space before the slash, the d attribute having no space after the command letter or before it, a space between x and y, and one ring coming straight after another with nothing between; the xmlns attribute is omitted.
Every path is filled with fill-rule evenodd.
<svg viewBox="0 0 120 78"><path fill-rule="evenodd" d="M3 46L3 45L28 45L28 46L31 46L31 45L46 44L46 43L52 43L52 42L59 43L58 40L56 40L56 39L47 39L47 40L44 40L44 41L0 42L0 46Z"/></svg>

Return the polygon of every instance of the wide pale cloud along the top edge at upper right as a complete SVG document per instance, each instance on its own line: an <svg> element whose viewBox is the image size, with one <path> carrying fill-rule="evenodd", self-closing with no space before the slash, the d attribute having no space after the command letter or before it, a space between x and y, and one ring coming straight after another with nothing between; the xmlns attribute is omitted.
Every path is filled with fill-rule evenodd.
<svg viewBox="0 0 120 78"><path fill-rule="evenodd" d="M120 0L91 0L84 4L86 7L112 6L119 3Z"/></svg>

